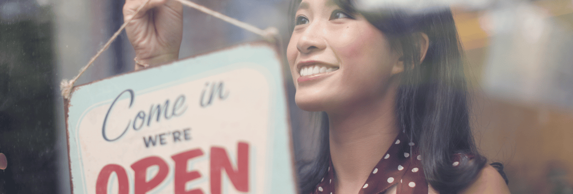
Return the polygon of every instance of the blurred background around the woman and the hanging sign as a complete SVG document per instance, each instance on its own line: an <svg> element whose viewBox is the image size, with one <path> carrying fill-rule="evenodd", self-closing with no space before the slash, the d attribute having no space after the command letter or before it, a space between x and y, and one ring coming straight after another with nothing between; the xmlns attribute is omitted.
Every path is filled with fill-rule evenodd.
<svg viewBox="0 0 573 194"><path fill-rule="evenodd" d="M286 0L195 0L288 40ZM0 193L69 193L59 82L119 29L124 0L0 0ZM452 5L472 82L473 127L512 193L573 193L573 1L466 1ZM180 58L259 39L185 8ZM122 33L77 84L133 70ZM311 113L289 106L295 151L311 159Z"/></svg>

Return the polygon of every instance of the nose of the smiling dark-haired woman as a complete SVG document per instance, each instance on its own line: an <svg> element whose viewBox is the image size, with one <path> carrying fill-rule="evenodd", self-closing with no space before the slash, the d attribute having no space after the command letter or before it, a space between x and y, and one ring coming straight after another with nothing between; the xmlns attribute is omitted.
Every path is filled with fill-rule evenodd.
<svg viewBox="0 0 573 194"><path fill-rule="evenodd" d="M320 26L320 23L310 23L300 35L296 47L303 54L325 49L324 28Z"/></svg>

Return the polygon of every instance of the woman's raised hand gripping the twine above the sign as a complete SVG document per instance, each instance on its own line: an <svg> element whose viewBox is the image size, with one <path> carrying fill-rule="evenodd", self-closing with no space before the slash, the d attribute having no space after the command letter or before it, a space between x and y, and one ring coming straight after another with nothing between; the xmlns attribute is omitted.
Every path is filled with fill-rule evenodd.
<svg viewBox="0 0 573 194"><path fill-rule="evenodd" d="M179 58L183 35L183 6L173 0L125 0L123 18L134 19L125 26L135 56L142 64L159 65ZM138 66L136 66L138 69Z"/></svg>

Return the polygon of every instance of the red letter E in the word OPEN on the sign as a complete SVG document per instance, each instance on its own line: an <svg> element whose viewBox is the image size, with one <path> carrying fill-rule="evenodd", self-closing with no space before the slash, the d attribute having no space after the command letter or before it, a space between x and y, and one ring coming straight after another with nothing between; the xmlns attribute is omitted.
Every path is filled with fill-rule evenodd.
<svg viewBox="0 0 573 194"><path fill-rule="evenodd" d="M203 156L203 151L201 151L201 149L193 149L191 151L178 153L177 155L171 156L173 161L175 161L176 194L203 194L201 189L191 189L190 191L185 191L185 184L188 181L201 177L201 173L199 173L199 171L187 172L187 161L198 156Z"/></svg>

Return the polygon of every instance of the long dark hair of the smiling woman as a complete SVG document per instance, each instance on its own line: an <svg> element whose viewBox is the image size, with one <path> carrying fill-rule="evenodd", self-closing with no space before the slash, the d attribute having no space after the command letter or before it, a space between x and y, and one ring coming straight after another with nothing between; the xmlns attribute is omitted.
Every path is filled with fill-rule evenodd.
<svg viewBox="0 0 573 194"><path fill-rule="evenodd" d="M350 13L364 15L402 52L405 72L397 93L398 126L417 142L428 183L440 193L457 193L471 184L486 159L478 152L470 129L461 45L450 9L416 14L399 9L364 12L354 9L350 0L335 2ZM291 19L299 4L291 5ZM420 33L429 37L422 62ZM327 172L328 118L323 115L317 160L298 164L303 194L312 193ZM454 155L461 156L456 167Z"/></svg>

